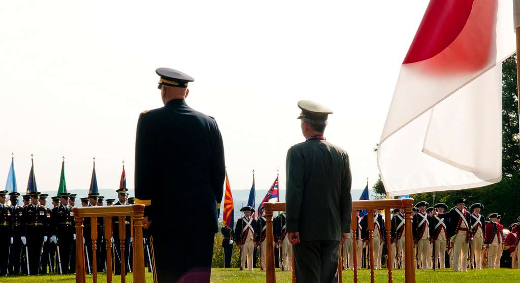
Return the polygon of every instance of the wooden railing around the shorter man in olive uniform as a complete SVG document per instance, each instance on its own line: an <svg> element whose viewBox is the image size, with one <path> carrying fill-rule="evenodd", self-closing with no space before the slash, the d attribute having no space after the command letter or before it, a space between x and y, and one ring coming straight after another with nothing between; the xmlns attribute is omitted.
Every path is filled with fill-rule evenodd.
<svg viewBox="0 0 520 283"><path fill-rule="evenodd" d="M373 231L374 231L374 210L381 209L385 211L385 230L386 230L386 245L388 250L388 257L386 265L388 267L388 282L392 283L392 248L390 244L390 230L392 222L390 220L390 210L398 208L405 212L405 282L415 282L415 266L414 266L414 249L413 249L413 236L412 236L412 206L413 199L402 198L402 199L384 199L384 200L355 200L352 202L352 241L353 241L353 267L354 267L354 278L353 281L357 282L357 239L356 230L358 226L356 210L366 209L368 214L368 231L369 231L369 257L370 257L370 281L375 282L374 279L374 250L373 250ZM275 283L275 252L274 252L274 236L272 232L272 214L274 211L285 211L285 203L265 203L264 211L267 222L267 254L266 254L266 282ZM361 234L361 231L359 232ZM340 249L341 250L341 249ZM381 260L381 259L378 259ZM293 261L294 262L294 261ZM337 273L339 282L342 282L342 261L341 252L340 259L338 261ZM294 277L293 268L293 283L297 282L298 278Z"/></svg>

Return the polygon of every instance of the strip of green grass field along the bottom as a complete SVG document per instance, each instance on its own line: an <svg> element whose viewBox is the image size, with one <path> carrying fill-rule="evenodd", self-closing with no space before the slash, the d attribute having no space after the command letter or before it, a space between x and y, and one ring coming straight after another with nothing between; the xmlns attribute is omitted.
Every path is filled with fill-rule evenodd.
<svg viewBox="0 0 520 283"><path fill-rule="evenodd" d="M379 270L375 271L376 282L387 282L388 271ZM393 271L394 282L404 282L405 275L404 271L396 270ZM437 283L437 282L485 282L485 283L496 283L501 281L507 282L520 282L520 270L519 269L484 269L482 271L471 270L466 273L453 272L452 269L444 270L418 270L415 273L417 282L420 283ZM352 271L343 272L343 282L352 282ZM289 283L291 282L290 272L277 272L277 282ZM127 276L127 282L132 282L132 276ZM152 282L151 273L147 273L147 282ZM358 272L359 282L370 282L370 271L361 270ZM46 282L59 282L59 283L72 283L75 282L74 275L40 275L40 276L16 276L16 277L4 277L0 278L0 283L46 283ZM87 282L92 282L92 276L87 277ZM106 282L106 278L103 275L98 276L98 282ZM121 282L119 276L113 278L113 282ZM224 268L213 268L211 275L211 282L214 283L259 283L265 282L265 272L258 271L256 269L253 272L238 271L237 269L224 269Z"/></svg>

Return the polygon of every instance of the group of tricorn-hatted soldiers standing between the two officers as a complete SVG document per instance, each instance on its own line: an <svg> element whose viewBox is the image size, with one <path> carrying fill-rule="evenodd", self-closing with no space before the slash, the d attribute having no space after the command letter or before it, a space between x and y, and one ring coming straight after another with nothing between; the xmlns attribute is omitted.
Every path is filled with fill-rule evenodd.
<svg viewBox="0 0 520 283"><path fill-rule="evenodd" d="M240 269L248 268L253 270L256 259L256 250L260 253L260 268L265 270L266 267L266 236L267 223L265 216L262 215L255 219L252 214L255 209L251 206L245 206L240 209L243 217L237 221L235 230L226 225L222 226L221 232L224 236L222 247L224 248L224 266L231 266L231 254L233 252L233 244L240 249ZM287 237L287 229L285 224L287 218L285 213L281 213L273 218L273 234L275 240L275 262L278 264L280 260L280 268L284 271L292 271L292 245Z"/></svg>

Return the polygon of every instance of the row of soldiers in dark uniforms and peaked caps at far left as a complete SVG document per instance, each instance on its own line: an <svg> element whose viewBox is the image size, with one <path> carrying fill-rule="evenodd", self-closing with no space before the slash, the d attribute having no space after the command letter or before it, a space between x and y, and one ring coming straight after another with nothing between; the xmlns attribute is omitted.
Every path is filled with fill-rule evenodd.
<svg viewBox="0 0 520 283"><path fill-rule="evenodd" d="M128 198L126 188L117 190L118 201L107 199L107 206L129 205L133 199ZM19 193L9 193L10 205L7 203L7 191L0 191L0 241L4 248L0 255L0 275L38 275L50 273L68 274L75 272L76 240L82 240L86 258L86 271L92 272L93 240L90 233L90 218L84 220L84 237L76 239L75 222L72 208L76 195L61 193L51 197L53 208L46 207L47 194L32 192L22 196L23 205L18 205ZM103 197L91 193L81 198L83 207L103 206ZM121 252L119 237L119 219L113 219L113 237L110 239L113 248L115 274L121 273ZM130 219L125 221L125 264L126 272L131 271L131 226ZM103 218L97 221L97 268L106 269L106 240L104 238ZM145 232L145 250L150 250L149 240ZM146 249L148 248L148 249ZM146 258L146 252L145 252ZM148 257L148 260L150 256ZM145 262L150 262L145 261ZM148 264L151 269L151 264Z"/></svg>

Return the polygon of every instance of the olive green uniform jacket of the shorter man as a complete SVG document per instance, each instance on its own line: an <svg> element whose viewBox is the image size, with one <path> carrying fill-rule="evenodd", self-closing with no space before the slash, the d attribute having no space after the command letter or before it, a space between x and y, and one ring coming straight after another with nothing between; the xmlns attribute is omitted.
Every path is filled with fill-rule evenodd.
<svg viewBox="0 0 520 283"><path fill-rule="evenodd" d="M340 240L350 233L352 176L347 153L325 140L293 145L285 161L287 232L300 241Z"/></svg>

